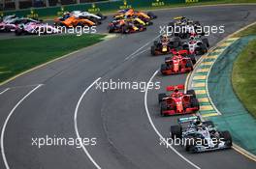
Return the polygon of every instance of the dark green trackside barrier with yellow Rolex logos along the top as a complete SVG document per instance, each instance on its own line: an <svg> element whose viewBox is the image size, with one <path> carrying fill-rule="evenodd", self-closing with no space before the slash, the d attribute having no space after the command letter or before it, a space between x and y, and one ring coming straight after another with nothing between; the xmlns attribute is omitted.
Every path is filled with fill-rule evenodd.
<svg viewBox="0 0 256 169"><path fill-rule="evenodd" d="M57 15L61 11L89 11L91 13L106 12L106 11L117 11L120 9L127 8L151 8L159 6L169 6L173 4L191 4L213 0L120 0L120 1L105 1L98 3L84 3L77 5L67 5L61 7L50 7L50 8L36 8L19 11L8 11L0 12L4 15L16 14L18 16L27 16L28 14L36 14L39 16Z"/></svg>

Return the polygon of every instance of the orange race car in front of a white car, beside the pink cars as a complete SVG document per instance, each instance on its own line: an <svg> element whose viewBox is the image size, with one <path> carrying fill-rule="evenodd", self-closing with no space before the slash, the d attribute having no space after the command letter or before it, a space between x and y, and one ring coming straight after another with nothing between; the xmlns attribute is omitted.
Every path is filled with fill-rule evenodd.
<svg viewBox="0 0 256 169"><path fill-rule="evenodd" d="M58 17L54 20L55 25L60 25L60 26L66 26L66 27L77 27L77 26L95 26L96 23L84 18L82 16L77 17L77 16L69 16L67 18L65 17Z"/></svg>

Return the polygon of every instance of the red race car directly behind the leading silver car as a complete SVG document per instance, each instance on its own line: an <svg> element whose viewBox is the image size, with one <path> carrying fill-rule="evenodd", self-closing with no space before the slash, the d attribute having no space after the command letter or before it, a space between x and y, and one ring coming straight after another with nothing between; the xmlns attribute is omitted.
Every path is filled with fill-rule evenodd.
<svg viewBox="0 0 256 169"><path fill-rule="evenodd" d="M195 91L188 90L184 94L179 90L184 90L184 85L168 86L167 91L174 91L172 94L158 95L161 116L188 114L199 110L199 101Z"/></svg>

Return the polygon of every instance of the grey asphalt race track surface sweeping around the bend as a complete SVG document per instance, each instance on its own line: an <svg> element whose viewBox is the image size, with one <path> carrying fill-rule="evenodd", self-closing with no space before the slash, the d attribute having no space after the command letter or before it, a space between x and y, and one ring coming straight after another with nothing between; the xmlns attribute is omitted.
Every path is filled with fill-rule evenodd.
<svg viewBox="0 0 256 169"><path fill-rule="evenodd" d="M0 87L0 91L10 88L0 95L0 124L3 127L17 102L38 84L44 84L16 107L6 125L4 148L10 168L95 168L82 149L72 146L39 149L32 146L31 138L46 135L76 138L74 113L77 103L85 89L98 77L102 77L102 82L110 79L147 82L164 60L164 56L150 56L148 47L158 36L159 26L166 25L173 16L185 15L204 25L225 25L224 34L208 37L213 46L255 21L256 6L194 7L155 14L158 18L146 32L98 43ZM106 27L105 22L99 30ZM169 136L169 128L176 124L177 117L160 117L157 94L164 92L167 85L184 83L185 78L186 74L165 77L156 74L153 81L161 82L161 89L148 91L150 117L164 137ZM159 137L145 112L144 93L138 90L108 90L103 93L93 86L81 99L78 129L81 137L97 138L97 145L86 149L101 168L194 168L173 150L159 145ZM234 150L196 155L186 154L180 147L176 150L200 168L256 167L255 162ZM2 158L0 168L5 168Z"/></svg>

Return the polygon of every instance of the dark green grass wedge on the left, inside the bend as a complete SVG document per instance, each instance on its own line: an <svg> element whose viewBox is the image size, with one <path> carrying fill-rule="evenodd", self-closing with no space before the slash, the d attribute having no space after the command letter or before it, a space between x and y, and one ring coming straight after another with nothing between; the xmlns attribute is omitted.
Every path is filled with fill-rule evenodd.
<svg viewBox="0 0 256 169"><path fill-rule="evenodd" d="M0 40L0 82L52 59L101 42L105 35L31 37Z"/></svg>

